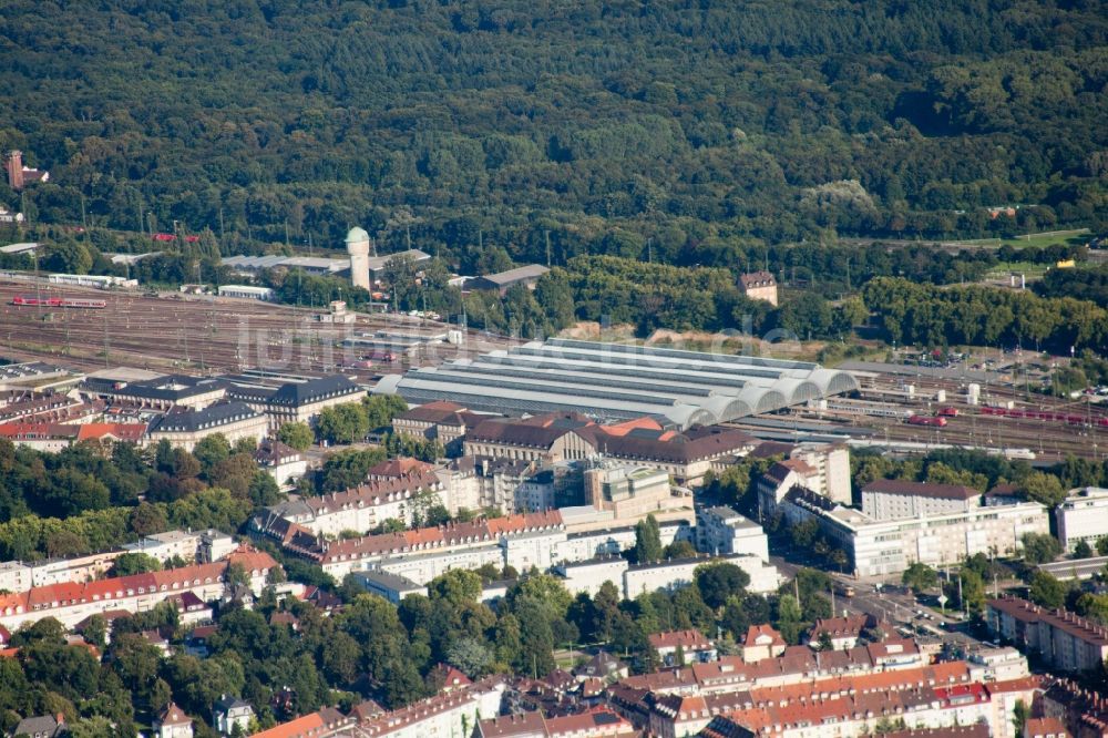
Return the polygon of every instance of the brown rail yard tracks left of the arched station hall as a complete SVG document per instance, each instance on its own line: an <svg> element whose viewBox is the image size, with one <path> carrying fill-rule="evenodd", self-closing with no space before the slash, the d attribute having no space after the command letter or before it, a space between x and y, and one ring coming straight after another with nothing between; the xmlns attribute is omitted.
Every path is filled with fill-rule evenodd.
<svg viewBox="0 0 1108 738"><path fill-rule="evenodd" d="M96 309L50 305L59 299L104 305L93 306ZM319 320L320 315L318 309L257 300L0 280L3 352L16 360L62 362L80 370L127 365L219 373L249 367L312 371L346 367L371 378L506 344L476 331L465 331L461 346L448 344L439 340L445 324L408 316L358 314L352 322L337 324ZM397 353L393 361L367 362L357 348L340 347L343 340L378 332L403 337L409 350Z"/></svg>

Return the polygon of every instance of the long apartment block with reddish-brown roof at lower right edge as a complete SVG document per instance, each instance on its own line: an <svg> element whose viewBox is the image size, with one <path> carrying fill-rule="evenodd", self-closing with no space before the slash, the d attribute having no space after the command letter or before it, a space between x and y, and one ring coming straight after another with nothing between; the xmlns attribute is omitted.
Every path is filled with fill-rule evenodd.
<svg viewBox="0 0 1108 738"><path fill-rule="evenodd" d="M1059 672L1098 668L1108 659L1108 628L1066 609L1002 597L986 603L985 619L996 636Z"/></svg>

